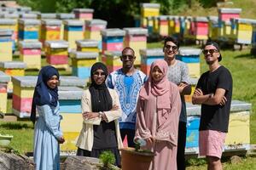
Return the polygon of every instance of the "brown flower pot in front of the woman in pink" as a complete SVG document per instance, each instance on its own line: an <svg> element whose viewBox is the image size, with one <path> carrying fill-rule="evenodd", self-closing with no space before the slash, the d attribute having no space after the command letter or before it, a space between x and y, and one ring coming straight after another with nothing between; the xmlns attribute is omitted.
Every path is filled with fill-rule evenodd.
<svg viewBox="0 0 256 170"><path fill-rule="evenodd" d="M153 152L135 151L134 148L121 149L122 170L148 170L154 158Z"/></svg>

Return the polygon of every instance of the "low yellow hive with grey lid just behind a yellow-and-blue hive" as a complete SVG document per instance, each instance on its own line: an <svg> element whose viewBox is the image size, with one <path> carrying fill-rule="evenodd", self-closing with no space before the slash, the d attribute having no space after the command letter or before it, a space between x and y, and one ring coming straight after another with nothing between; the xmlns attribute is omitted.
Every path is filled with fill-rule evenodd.
<svg viewBox="0 0 256 170"><path fill-rule="evenodd" d="M95 52L99 53L99 41L91 40L91 39L84 39L84 40L77 40L77 50L82 52Z"/></svg>

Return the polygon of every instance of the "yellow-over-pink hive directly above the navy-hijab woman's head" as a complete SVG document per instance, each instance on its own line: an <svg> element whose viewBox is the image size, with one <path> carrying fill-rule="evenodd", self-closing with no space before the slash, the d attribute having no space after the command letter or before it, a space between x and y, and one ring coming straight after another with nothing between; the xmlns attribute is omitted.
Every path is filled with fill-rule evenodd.
<svg viewBox="0 0 256 170"><path fill-rule="evenodd" d="M45 54L46 61L49 65L55 65L57 68L68 67L68 42L59 41L46 41L45 42Z"/></svg>

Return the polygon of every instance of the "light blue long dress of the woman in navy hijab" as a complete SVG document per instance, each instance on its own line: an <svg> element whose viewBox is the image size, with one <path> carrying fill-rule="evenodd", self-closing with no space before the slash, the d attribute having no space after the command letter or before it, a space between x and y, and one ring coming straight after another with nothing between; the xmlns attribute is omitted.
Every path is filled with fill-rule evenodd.
<svg viewBox="0 0 256 170"><path fill-rule="evenodd" d="M60 106L37 105L39 114L34 131L34 161L37 170L60 169L60 145L62 136Z"/></svg>

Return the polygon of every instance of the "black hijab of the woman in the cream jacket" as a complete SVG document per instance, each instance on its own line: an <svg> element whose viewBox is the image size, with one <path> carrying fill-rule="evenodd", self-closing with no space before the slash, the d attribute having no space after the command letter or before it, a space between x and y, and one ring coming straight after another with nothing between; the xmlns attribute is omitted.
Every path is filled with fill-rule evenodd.
<svg viewBox="0 0 256 170"><path fill-rule="evenodd" d="M105 73L105 80L102 84L98 85L93 79L93 73L98 70L102 69ZM101 62L97 62L92 65L90 70L90 99L91 99L91 109L93 112L99 111L110 111L112 109L112 98L108 92L108 88L106 86L106 79L108 77L108 69L106 65L102 64Z"/></svg>

